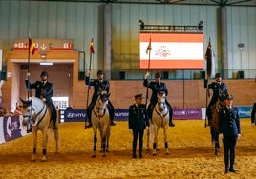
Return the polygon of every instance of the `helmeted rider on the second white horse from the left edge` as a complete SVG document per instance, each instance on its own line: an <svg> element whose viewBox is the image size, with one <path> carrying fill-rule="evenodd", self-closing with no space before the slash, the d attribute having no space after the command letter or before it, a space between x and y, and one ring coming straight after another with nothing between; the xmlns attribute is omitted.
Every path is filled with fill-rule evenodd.
<svg viewBox="0 0 256 179"><path fill-rule="evenodd" d="M93 94L93 97L92 97L92 101L91 101L90 105L87 108L87 116L88 116L88 122L89 122L87 128L92 127L91 114L92 114L92 111L93 111L94 106L96 104L97 97L99 96L99 94L102 91L106 91L107 93L109 93L109 90L110 90L110 84L104 78L104 71L103 70L98 70L97 71L97 79L94 80L94 81L91 81L91 82L89 81L90 80L89 75L90 75L90 71L87 72L86 79L85 79L85 84L93 86L95 91L94 91L94 94ZM108 101L108 106L107 107L108 107L109 113L110 113L111 125L115 126L116 125L114 123L115 109L114 109L114 107L113 107L113 105L110 101Z"/></svg>

